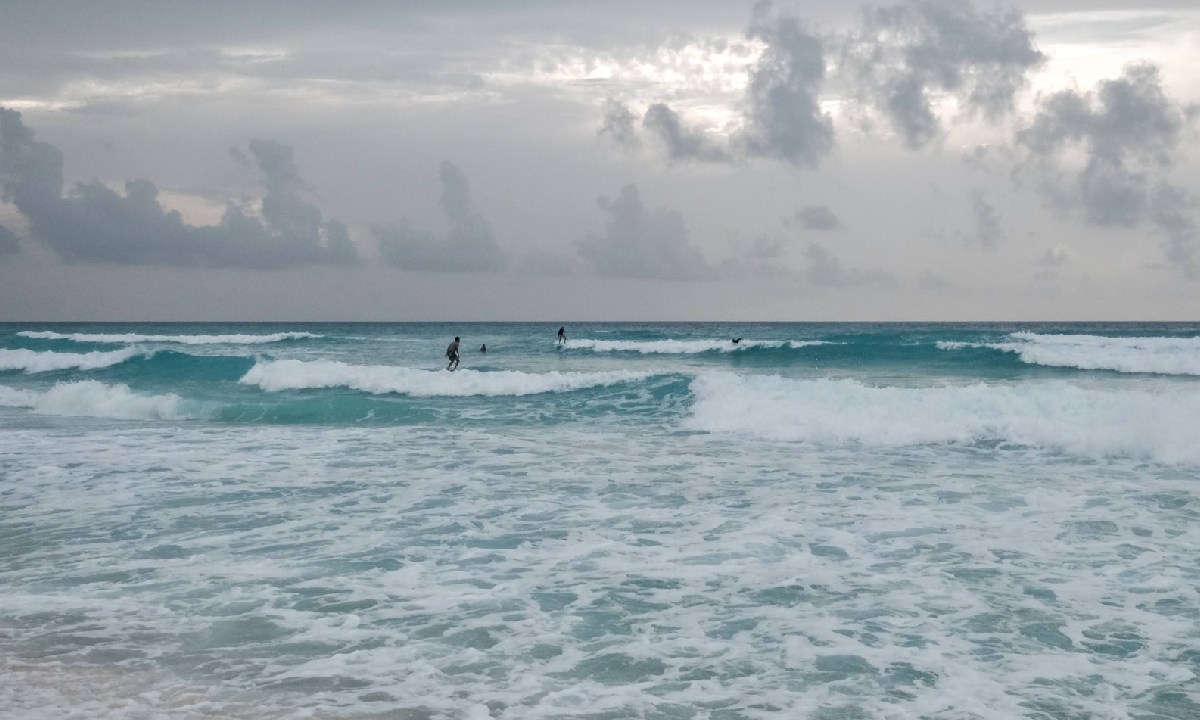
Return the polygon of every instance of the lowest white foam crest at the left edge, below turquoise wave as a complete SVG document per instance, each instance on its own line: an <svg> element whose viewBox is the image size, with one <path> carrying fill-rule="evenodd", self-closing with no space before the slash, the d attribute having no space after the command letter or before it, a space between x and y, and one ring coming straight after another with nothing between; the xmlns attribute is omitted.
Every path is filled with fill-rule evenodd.
<svg viewBox="0 0 1200 720"><path fill-rule="evenodd" d="M16 390L0 385L0 406L29 408L40 415L113 418L116 420L184 420L203 418L188 412L174 392L140 395L128 385L96 380L58 383L46 391Z"/></svg>

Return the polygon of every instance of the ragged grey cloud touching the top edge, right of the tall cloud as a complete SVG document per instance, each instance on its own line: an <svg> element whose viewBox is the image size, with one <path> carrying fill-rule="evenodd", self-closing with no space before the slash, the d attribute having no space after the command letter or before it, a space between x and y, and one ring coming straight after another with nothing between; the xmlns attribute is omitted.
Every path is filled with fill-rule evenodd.
<svg viewBox="0 0 1200 720"><path fill-rule="evenodd" d="M942 134L935 95L997 119L1013 109L1026 73L1044 60L1015 10L980 11L961 0L907 0L865 11L846 43L854 86L878 108L905 145Z"/></svg>

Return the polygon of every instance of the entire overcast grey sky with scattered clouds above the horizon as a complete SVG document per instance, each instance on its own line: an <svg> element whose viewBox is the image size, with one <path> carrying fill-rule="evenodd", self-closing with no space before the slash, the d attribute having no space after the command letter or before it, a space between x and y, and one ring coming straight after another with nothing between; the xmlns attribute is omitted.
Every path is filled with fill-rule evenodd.
<svg viewBox="0 0 1200 720"><path fill-rule="evenodd" d="M0 320L1196 320L1194 0L0 0Z"/></svg>

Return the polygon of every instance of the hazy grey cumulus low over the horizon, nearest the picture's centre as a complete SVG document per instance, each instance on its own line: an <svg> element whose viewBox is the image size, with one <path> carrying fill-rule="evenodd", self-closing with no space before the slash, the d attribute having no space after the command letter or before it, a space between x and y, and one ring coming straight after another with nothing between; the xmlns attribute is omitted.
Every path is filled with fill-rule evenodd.
<svg viewBox="0 0 1200 720"><path fill-rule="evenodd" d="M648 209L636 185L622 187L616 198L601 196L607 215L605 233L589 233L578 242L580 256L594 272L612 277L700 280L713 269L691 245L683 217L674 210Z"/></svg>

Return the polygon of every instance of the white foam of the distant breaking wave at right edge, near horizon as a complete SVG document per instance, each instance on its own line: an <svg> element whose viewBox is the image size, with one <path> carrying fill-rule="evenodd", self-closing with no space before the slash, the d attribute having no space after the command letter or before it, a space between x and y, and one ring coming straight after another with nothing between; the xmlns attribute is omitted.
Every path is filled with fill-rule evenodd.
<svg viewBox="0 0 1200 720"><path fill-rule="evenodd" d="M1200 337L1105 337L1013 332L1014 342L938 342L943 350L984 347L1015 353L1022 362L1079 370L1200 376Z"/></svg>

